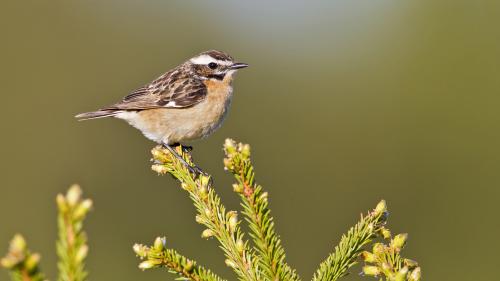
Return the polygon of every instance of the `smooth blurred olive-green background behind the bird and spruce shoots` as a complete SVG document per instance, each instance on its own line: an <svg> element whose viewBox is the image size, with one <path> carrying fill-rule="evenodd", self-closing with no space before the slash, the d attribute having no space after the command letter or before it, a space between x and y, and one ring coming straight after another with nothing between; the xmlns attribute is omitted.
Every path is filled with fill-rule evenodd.
<svg viewBox="0 0 500 281"><path fill-rule="evenodd" d="M497 279L499 3L2 1L0 250L23 233L54 280L54 197L77 182L95 203L92 280L173 280L137 268L131 246L158 235L234 279L186 194L150 170L153 143L120 120L73 118L220 49L251 67L194 156L237 209L222 143L252 145L304 280L381 198L424 279Z"/></svg>

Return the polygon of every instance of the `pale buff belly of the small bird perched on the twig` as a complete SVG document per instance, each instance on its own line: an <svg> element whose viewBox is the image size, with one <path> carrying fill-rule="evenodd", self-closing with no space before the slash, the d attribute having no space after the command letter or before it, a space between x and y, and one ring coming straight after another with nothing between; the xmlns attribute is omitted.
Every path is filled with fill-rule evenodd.
<svg viewBox="0 0 500 281"><path fill-rule="evenodd" d="M148 109L127 120L149 139L169 144L204 138L220 127L229 105L230 96L220 102L203 100L189 108ZM125 118L123 118L125 119Z"/></svg>

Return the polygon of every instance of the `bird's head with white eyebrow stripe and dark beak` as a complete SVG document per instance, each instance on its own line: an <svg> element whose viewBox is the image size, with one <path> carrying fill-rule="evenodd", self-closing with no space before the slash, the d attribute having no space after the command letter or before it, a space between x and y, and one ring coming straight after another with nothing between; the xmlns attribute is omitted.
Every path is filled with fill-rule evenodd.
<svg viewBox="0 0 500 281"><path fill-rule="evenodd" d="M204 80L230 80L234 73L248 66L246 63L235 62L233 58L220 51L203 52L186 62L196 76Z"/></svg>

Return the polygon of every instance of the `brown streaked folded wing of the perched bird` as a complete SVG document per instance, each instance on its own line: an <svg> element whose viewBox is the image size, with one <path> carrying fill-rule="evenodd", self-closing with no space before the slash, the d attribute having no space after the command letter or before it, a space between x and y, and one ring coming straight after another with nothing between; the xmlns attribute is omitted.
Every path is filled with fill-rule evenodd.
<svg viewBox="0 0 500 281"><path fill-rule="evenodd" d="M201 102L207 95L205 84L178 72L167 72L150 84L141 87L122 101L104 110L143 110L152 108L184 108Z"/></svg>

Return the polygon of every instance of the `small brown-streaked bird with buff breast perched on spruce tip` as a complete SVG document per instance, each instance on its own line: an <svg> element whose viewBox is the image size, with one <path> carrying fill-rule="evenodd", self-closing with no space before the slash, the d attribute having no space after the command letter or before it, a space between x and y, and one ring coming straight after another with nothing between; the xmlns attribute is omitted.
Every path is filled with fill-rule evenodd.
<svg viewBox="0 0 500 281"><path fill-rule="evenodd" d="M78 120L123 119L143 135L163 145L191 172L174 149L182 142L203 139L217 130L229 111L234 74L248 64L217 50L202 52L165 72L121 101L97 111L76 115Z"/></svg>

